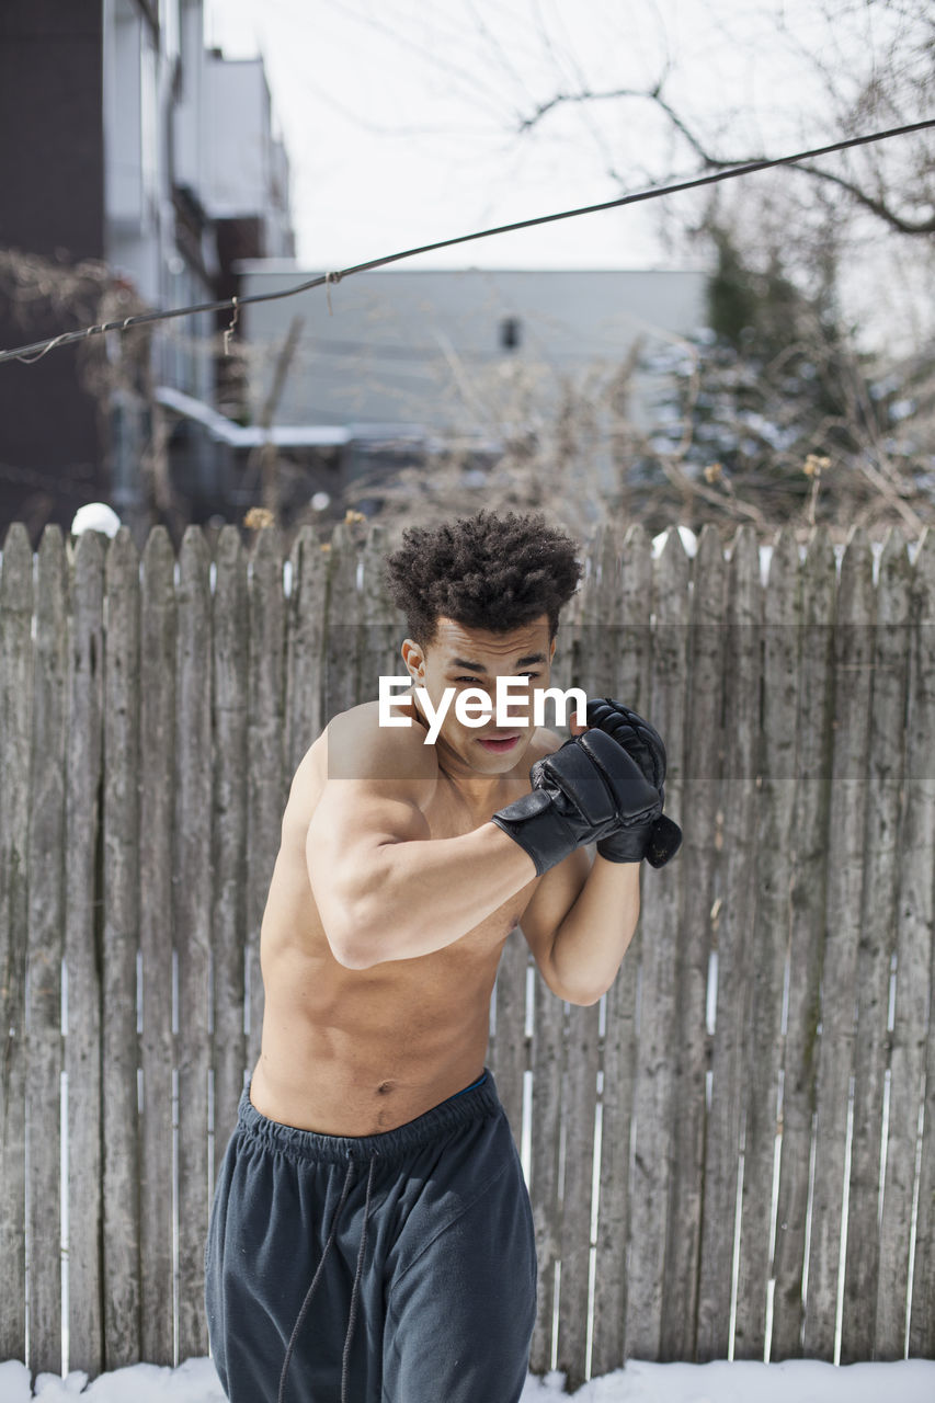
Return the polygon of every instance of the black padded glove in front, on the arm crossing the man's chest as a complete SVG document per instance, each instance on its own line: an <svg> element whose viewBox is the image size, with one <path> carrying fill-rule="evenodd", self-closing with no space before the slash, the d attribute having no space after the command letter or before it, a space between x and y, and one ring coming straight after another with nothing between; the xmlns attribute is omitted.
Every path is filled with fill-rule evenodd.
<svg viewBox="0 0 935 1403"><path fill-rule="evenodd" d="M529 780L532 791L493 814L491 822L529 853L536 875L583 843L618 831L635 828L644 843L663 811L658 791L636 760L599 730L576 735L536 760Z"/></svg>

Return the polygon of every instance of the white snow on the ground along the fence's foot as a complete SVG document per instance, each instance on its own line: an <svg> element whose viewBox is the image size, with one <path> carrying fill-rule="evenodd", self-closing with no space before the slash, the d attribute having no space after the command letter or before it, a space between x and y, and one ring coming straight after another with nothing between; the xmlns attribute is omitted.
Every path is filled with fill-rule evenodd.
<svg viewBox="0 0 935 1403"><path fill-rule="evenodd" d="M79 1371L62 1379L41 1374L29 1392L29 1372L10 1360L0 1364L0 1403L66 1403L79 1396L91 1403L225 1403L209 1358L185 1360L177 1369L135 1364L102 1374L81 1392L87 1375ZM835 1368L814 1360L782 1364L642 1364L591 1379L571 1395L574 1403L932 1403L935 1361L900 1360L897 1364L849 1364ZM562 1374L545 1379L529 1375L521 1403L559 1403L569 1399ZM445 1403L439 1399L439 1403ZM477 1403L497 1403L479 1399Z"/></svg>

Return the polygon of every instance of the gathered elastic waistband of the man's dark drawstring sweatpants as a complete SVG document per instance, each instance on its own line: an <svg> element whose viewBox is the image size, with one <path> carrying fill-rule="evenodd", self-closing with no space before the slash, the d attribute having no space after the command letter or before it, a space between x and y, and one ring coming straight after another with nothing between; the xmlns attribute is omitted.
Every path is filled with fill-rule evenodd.
<svg viewBox="0 0 935 1403"><path fill-rule="evenodd" d="M347 1163L348 1159L402 1159L420 1145L427 1145L459 1125L501 1110L494 1079L487 1068L484 1076L473 1086L456 1092L446 1101L432 1106L416 1120L397 1125L378 1135L321 1135L319 1131L300 1129L272 1121L250 1100L250 1085L240 1096L237 1107L237 1129L250 1139L260 1141L270 1149L281 1150L291 1159L317 1163Z"/></svg>

